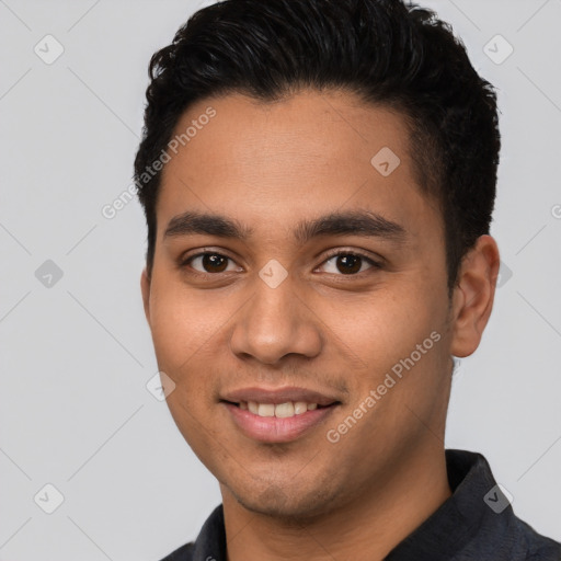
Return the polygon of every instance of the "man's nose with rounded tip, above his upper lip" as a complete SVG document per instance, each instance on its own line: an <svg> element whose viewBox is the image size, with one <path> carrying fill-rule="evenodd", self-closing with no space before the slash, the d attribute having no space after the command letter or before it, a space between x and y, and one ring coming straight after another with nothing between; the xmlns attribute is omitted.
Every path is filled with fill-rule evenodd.
<svg viewBox="0 0 561 561"><path fill-rule="evenodd" d="M312 358L321 352L321 320L296 293L288 276L276 287L256 278L255 291L237 316L230 348L240 358L274 365L286 355Z"/></svg>

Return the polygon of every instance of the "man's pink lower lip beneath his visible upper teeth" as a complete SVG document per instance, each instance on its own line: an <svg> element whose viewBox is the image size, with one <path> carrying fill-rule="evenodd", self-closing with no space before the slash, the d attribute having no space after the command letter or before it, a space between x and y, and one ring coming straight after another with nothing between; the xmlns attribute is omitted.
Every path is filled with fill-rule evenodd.
<svg viewBox="0 0 561 561"><path fill-rule="evenodd" d="M233 422L245 436L263 443L288 443L296 440L307 431L321 423L336 408L336 404L333 404L307 411L300 415L276 417L259 416L232 403L224 401L221 403L226 405L232 415Z"/></svg>

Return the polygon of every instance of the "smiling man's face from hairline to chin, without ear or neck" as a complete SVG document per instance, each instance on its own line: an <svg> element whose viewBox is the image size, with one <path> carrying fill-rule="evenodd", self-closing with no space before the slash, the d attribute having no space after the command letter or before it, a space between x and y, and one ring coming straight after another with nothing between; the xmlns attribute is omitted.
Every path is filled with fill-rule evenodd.
<svg viewBox="0 0 561 561"><path fill-rule="evenodd" d="M216 115L199 118L209 106ZM176 134L193 121L196 134L163 170L142 283L158 365L175 382L171 413L249 510L305 517L344 507L443 447L453 342L443 220L415 184L404 121L318 92L205 100ZM251 233L194 233L175 221L165 236L186 211ZM305 236L304 222L350 213L386 222ZM240 391L231 401L244 401L248 388L295 387L334 404L262 417L227 402Z"/></svg>

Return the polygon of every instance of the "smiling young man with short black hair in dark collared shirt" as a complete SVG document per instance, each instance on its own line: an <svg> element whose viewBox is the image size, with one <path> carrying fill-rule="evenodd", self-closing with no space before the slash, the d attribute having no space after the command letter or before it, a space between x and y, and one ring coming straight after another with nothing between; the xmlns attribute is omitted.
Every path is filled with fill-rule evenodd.
<svg viewBox="0 0 561 561"><path fill-rule="evenodd" d="M559 560L445 450L499 250L493 88L396 0L227 0L150 64L146 317L222 495L167 560Z"/></svg>

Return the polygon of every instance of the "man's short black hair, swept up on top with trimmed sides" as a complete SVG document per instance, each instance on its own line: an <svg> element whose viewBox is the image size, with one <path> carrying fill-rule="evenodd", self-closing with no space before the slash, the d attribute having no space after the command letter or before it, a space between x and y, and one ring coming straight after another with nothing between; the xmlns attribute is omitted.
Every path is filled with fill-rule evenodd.
<svg viewBox="0 0 561 561"><path fill-rule="evenodd" d="M402 0L225 0L180 27L152 56L149 77L135 159L149 276L161 172L146 170L191 104L229 93L266 102L331 89L398 111L415 179L444 218L449 295L461 259L489 233L501 148L496 94L432 10Z"/></svg>

